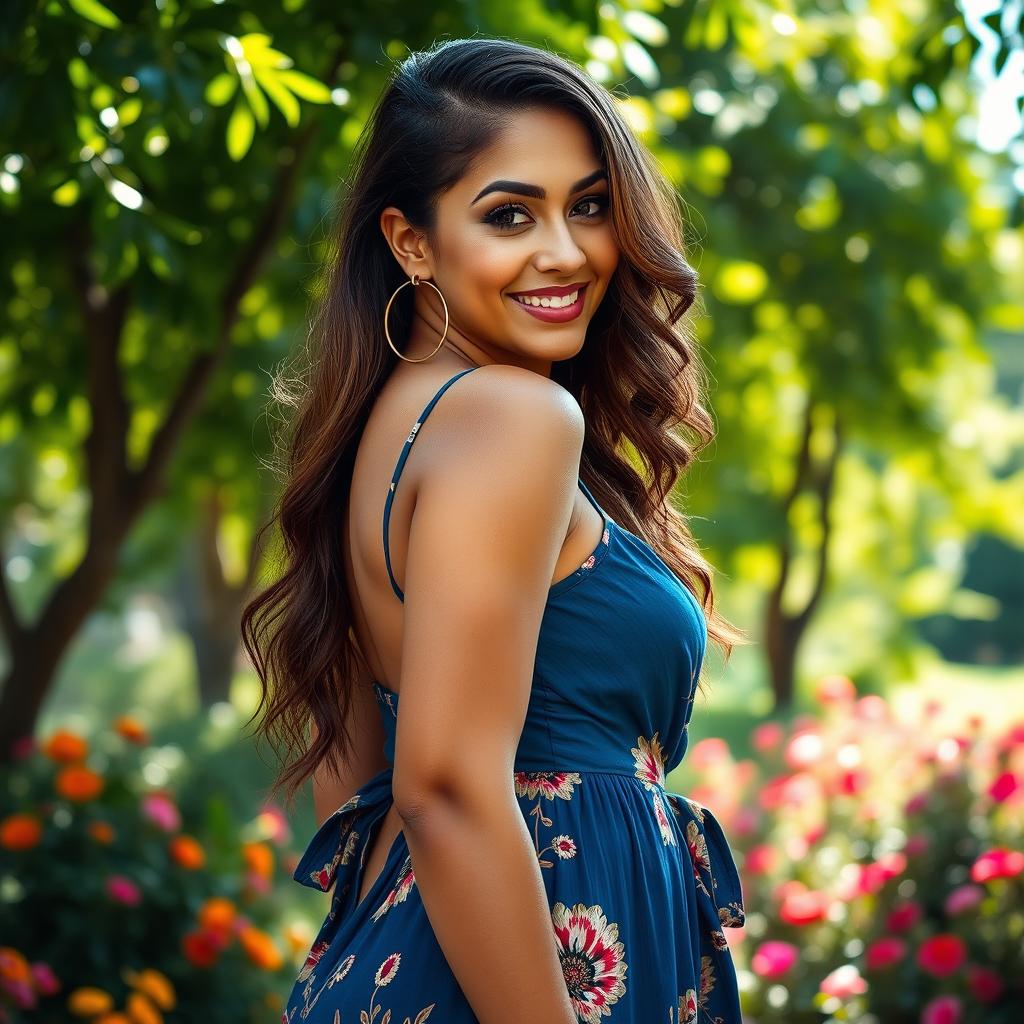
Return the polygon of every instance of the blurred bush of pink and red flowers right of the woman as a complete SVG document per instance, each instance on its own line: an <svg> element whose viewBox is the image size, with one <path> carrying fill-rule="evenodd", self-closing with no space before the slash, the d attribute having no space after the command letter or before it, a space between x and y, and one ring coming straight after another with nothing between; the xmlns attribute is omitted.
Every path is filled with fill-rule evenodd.
<svg viewBox="0 0 1024 1024"><path fill-rule="evenodd" d="M753 758L708 739L686 762L741 865L752 1021L1018 1024L1024 723L950 728L935 701L901 719L842 676L815 695Z"/></svg>

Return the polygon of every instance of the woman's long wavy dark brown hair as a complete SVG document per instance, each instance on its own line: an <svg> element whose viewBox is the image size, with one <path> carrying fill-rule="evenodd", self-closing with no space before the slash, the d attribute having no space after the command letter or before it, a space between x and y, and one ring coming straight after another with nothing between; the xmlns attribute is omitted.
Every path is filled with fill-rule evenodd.
<svg viewBox="0 0 1024 1024"><path fill-rule="evenodd" d="M621 256L572 358L552 378L579 401L587 431L581 475L609 515L646 540L700 601L709 640L724 651L745 633L715 610L713 569L687 516L669 501L715 436L706 374L684 314L698 282L684 254L685 219L672 184L616 108L615 96L561 56L514 41L471 38L407 56L356 143L337 202L331 253L314 294L308 343L276 377L290 411L284 488L260 530L279 527L276 579L245 608L242 636L261 683L254 718L285 767L273 792L296 791L350 750L345 721L360 668L342 560L342 513L356 446L397 356L382 311L406 280L379 226L398 207L433 241L438 197L526 106L574 114L608 172ZM400 347L413 289L392 305ZM700 686L702 688L702 679ZM315 737L307 728L315 723Z"/></svg>

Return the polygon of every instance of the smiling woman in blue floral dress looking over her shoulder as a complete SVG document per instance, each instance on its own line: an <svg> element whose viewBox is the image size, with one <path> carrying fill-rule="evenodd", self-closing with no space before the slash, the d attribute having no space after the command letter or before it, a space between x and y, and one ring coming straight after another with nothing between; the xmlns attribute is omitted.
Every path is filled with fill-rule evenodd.
<svg viewBox="0 0 1024 1024"><path fill-rule="evenodd" d="M243 621L333 890L283 1021L739 1024L735 864L665 787L742 639L668 502L713 437L674 193L495 39L410 55L356 158Z"/></svg>

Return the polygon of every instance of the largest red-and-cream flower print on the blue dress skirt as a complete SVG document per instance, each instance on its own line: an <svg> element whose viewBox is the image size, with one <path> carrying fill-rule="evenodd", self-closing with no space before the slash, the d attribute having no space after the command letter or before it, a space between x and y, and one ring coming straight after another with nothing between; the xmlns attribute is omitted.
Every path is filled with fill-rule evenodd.
<svg viewBox="0 0 1024 1024"><path fill-rule="evenodd" d="M577 1019L592 1024L607 1017L626 994L625 950L618 925L608 921L600 905L557 902L551 912L558 939L562 977Z"/></svg>

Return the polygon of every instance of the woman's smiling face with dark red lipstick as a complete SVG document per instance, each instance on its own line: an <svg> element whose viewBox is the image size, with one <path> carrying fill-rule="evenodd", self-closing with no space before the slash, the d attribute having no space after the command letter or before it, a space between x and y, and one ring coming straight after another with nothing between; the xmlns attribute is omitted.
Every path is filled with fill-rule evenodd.
<svg viewBox="0 0 1024 1024"><path fill-rule="evenodd" d="M391 226L400 233L396 222ZM391 241L394 248L398 240ZM476 362L511 362L550 376L553 361L583 347L618 262L608 180L583 124L549 108L512 116L440 197L435 247L421 240L417 251L422 257L408 253L403 268L443 293L447 340ZM545 290L559 296L538 306ZM528 305L523 293L535 293ZM573 294L563 305L561 296ZM406 354L430 352L443 327L436 292L417 288Z"/></svg>

